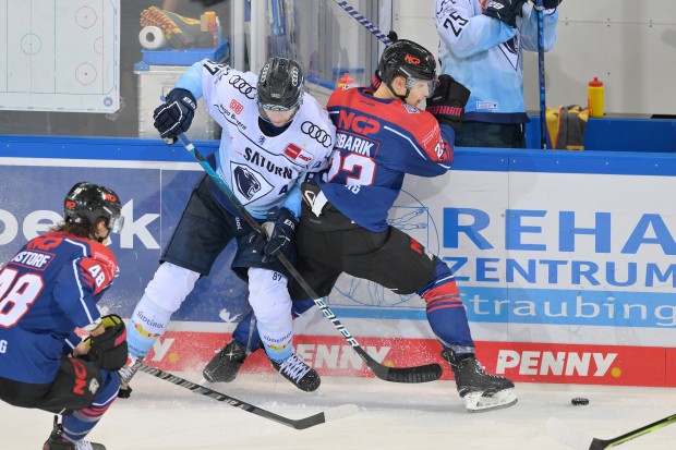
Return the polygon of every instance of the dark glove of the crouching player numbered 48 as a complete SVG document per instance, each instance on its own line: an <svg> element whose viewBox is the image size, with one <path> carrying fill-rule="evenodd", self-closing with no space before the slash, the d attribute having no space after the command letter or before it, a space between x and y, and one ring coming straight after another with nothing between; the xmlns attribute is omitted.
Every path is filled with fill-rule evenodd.
<svg viewBox="0 0 676 450"><path fill-rule="evenodd" d="M101 335L89 336L89 352L83 356L105 370L119 370L126 364L126 328L116 314L101 317L106 328Z"/></svg>

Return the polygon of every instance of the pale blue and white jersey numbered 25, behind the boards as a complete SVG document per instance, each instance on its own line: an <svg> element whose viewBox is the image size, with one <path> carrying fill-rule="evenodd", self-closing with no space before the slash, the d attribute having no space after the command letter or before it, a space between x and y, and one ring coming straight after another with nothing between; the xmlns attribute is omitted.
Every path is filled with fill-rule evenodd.
<svg viewBox="0 0 676 450"><path fill-rule="evenodd" d="M483 14L487 0L436 0L442 72L471 90L466 120L528 122L523 100L523 49L538 51L538 19L522 7L517 28ZM544 11L544 50L556 41L556 10Z"/></svg>

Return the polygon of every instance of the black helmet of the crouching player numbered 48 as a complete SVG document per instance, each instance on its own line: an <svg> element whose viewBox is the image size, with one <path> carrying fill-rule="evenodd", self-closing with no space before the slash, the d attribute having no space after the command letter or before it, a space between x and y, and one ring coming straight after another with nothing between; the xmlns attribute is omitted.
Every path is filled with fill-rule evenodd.
<svg viewBox="0 0 676 450"><path fill-rule="evenodd" d="M93 227L99 218L106 220L106 227L112 233L122 230L120 197L106 186L80 182L75 184L63 200L63 219L67 223L82 223Z"/></svg>

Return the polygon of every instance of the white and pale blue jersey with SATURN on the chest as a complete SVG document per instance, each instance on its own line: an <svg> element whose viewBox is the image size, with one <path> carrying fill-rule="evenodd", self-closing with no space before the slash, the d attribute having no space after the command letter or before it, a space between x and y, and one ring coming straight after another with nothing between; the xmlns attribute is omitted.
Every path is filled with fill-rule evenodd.
<svg viewBox="0 0 676 450"><path fill-rule="evenodd" d="M200 86L195 85L197 73ZM307 172L328 166L336 127L326 109L304 93L289 127L267 136L258 125L256 82L254 73L204 60L177 87L191 90L195 98L204 97L209 115L222 126L216 171L246 210L263 219L273 206L283 204Z"/></svg>

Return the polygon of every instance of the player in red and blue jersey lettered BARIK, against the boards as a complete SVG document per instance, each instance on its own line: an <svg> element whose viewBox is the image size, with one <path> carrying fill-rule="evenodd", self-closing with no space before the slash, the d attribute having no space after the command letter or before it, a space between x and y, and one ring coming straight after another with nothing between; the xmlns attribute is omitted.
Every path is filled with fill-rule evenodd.
<svg viewBox="0 0 676 450"><path fill-rule="evenodd" d="M329 168L301 188L297 268L319 296L331 292L342 272L399 294L417 293L425 301L427 320L466 408L486 411L515 404L514 384L486 374L476 361L448 266L386 222L407 173L437 177L450 169L455 131L470 93L449 75L437 81L432 53L410 40L385 49L377 75L375 92L348 86L328 100L336 144ZM421 110L418 105L425 97L426 110ZM292 282L291 296L307 294ZM244 318L233 340L209 362L207 379L234 379L246 350L255 350L243 340L249 324Z"/></svg>

